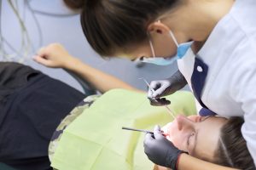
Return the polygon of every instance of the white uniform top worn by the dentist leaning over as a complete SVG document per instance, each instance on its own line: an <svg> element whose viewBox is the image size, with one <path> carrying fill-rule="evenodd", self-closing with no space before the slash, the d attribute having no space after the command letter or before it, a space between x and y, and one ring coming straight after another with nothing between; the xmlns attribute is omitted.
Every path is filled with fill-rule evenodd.
<svg viewBox="0 0 256 170"><path fill-rule="evenodd" d="M208 65L201 100L219 116L244 117L241 133L256 165L255 17L255 0L236 0L199 53L178 59L177 64L190 87L195 57ZM201 68L197 70L203 71Z"/></svg>

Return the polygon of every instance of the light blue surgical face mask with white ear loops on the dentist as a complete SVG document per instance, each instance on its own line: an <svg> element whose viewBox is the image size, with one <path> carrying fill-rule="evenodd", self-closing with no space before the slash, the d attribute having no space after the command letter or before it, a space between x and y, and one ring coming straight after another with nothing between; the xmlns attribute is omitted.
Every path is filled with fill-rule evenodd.
<svg viewBox="0 0 256 170"><path fill-rule="evenodd" d="M184 42L184 43L178 44L177 39L174 37L172 31L170 31L170 35L173 41L175 42L175 44L177 45L177 54L175 56L168 57L168 58L156 57L154 53L153 43L151 40L149 40L153 58L144 58L143 59L144 63L151 63L154 65L172 65L172 63L174 63L177 59L182 59L185 56L185 54L187 54L193 42Z"/></svg>

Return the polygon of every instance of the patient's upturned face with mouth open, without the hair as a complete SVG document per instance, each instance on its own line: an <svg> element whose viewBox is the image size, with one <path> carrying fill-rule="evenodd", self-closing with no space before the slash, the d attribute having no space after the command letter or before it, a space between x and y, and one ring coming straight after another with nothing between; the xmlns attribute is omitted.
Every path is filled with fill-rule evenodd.
<svg viewBox="0 0 256 170"><path fill-rule="evenodd" d="M179 150L212 161L218 147L220 129L226 121L217 116L177 116L173 122L163 127L163 131L166 138Z"/></svg>

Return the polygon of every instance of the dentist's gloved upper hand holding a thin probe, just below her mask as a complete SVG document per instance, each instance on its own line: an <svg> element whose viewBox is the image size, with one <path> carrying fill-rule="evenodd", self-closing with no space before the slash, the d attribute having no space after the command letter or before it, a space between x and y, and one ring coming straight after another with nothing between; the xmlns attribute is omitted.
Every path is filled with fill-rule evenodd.
<svg viewBox="0 0 256 170"><path fill-rule="evenodd" d="M148 89L148 99L151 105L169 105L171 102L165 98L161 98L166 95L175 93L177 90L183 88L187 84L186 79L180 71L177 71L172 77L166 80L156 80L150 82L150 88L154 89L154 92Z"/></svg>

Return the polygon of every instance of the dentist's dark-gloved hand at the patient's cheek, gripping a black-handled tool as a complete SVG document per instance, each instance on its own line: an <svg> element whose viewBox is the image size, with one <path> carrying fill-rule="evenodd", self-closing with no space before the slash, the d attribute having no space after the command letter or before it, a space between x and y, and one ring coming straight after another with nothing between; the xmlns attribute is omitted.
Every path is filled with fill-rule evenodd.
<svg viewBox="0 0 256 170"><path fill-rule="evenodd" d="M144 139L144 152L155 164L176 170L178 156L185 153L178 150L161 133L160 127L154 127L154 135L147 133Z"/></svg>

